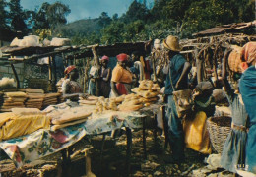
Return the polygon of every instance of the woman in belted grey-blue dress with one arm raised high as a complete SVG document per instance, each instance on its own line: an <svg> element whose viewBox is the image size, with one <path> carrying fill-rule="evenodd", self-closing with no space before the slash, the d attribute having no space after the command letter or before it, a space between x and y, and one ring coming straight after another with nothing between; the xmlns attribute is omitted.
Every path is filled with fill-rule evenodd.
<svg viewBox="0 0 256 177"><path fill-rule="evenodd" d="M228 56L228 50L224 53L224 59ZM225 60L224 60L225 61ZM229 101L232 124L231 131L224 143L221 165L224 169L236 173L236 168L245 167L245 147L247 140L246 122L247 113L241 94L234 93L223 72L224 89Z"/></svg>

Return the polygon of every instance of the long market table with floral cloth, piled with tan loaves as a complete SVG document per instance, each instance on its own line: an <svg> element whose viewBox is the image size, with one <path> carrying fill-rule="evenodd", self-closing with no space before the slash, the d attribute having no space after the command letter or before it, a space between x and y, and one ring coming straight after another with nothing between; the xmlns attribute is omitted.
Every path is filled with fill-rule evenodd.
<svg viewBox="0 0 256 177"><path fill-rule="evenodd" d="M30 89L32 91L32 89ZM127 134L127 161L131 157L132 129L143 129L143 147L146 155L146 119L152 119L162 105L159 97L160 88L152 81L142 81L134 93L117 98L105 99L103 97L88 96L77 102L66 101L57 105L50 105L43 111L38 109L13 108L2 121L0 130L13 130L9 125L13 116L27 115L27 119L49 120L47 125L33 129L32 132L13 130L13 134L0 138L0 148L19 167L36 159L69 148L85 136L109 133L116 129L125 128ZM12 115L10 115L12 114ZM32 117L30 117L32 115ZM8 117L11 116L11 117ZM23 121L22 116L16 121ZM29 120L26 120L27 122ZM32 121L34 122L34 121ZM15 125L14 123L11 123ZM29 123L24 123L28 125ZM30 130L30 126L24 126ZM127 166L129 169L129 165ZM128 170L127 169L127 170ZM129 174L129 173L128 173Z"/></svg>

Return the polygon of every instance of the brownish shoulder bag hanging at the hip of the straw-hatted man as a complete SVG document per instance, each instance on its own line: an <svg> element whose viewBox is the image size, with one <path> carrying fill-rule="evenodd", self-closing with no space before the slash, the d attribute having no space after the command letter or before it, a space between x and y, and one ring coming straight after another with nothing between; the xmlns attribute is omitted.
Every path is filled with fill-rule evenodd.
<svg viewBox="0 0 256 177"><path fill-rule="evenodd" d="M182 118L185 114L191 112L193 104L192 90L183 89L173 91L172 93L176 105L176 110L178 113L178 118Z"/></svg>

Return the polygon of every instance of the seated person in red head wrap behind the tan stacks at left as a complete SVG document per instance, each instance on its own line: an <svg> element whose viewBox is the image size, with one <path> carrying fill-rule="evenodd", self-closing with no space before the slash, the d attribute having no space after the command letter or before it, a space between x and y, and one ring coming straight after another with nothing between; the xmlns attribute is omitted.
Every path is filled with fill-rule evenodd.
<svg viewBox="0 0 256 177"><path fill-rule="evenodd" d="M71 98L72 100L77 100L78 96L85 96L83 94L83 89L77 82L79 78L79 72L76 66L71 65L67 67L64 71L65 81L62 83L62 92L64 98ZM73 99L74 98L74 99Z"/></svg>

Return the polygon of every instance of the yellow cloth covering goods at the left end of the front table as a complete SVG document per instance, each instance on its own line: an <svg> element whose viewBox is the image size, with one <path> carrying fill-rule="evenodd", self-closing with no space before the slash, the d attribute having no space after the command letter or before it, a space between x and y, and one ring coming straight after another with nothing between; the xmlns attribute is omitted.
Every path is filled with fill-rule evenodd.
<svg viewBox="0 0 256 177"><path fill-rule="evenodd" d="M12 112L0 113L0 117L0 141L50 127L50 117L35 108L13 108Z"/></svg>

